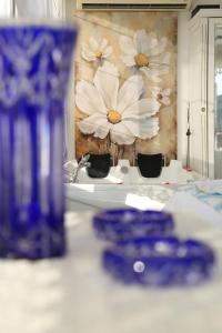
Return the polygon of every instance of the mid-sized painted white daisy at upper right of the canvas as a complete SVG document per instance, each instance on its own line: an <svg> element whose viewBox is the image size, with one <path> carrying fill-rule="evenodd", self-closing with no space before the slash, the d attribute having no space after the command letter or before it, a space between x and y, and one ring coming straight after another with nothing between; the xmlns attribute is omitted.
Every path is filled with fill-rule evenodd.
<svg viewBox="0 0 222 333"><path fill-rule="evenodd" d="M122 61L128 67L137 67L154 82L160 82L160 75L169 72L170 53L163 53L167 38L157 39L153 32L138 30L133 38L121 36L120 48L124 56Z"/></svg>

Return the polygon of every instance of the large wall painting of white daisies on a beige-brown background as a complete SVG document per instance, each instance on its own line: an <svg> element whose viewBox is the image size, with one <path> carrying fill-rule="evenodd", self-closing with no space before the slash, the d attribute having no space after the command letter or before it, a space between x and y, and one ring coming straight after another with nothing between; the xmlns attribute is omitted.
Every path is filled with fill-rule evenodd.
<svg viewBox="0 0 222 333"><path fill-rule="evenodd" d="M176 16L75 12L75 154L176 155Z"/></svg>

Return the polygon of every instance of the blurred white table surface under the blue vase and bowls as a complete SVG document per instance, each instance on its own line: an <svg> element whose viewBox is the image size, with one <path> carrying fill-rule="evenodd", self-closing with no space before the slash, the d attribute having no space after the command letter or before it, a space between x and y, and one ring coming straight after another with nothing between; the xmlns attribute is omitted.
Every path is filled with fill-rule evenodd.
<svg viewBox="0 0 222 333"><path fill-rule="evenodd" d="M201 286L153 290L103 272L90 220L67 214L63 259L0 261L1 333L222 333L222 222L176 214L178 234L208 241L218 269Z"/></svg>

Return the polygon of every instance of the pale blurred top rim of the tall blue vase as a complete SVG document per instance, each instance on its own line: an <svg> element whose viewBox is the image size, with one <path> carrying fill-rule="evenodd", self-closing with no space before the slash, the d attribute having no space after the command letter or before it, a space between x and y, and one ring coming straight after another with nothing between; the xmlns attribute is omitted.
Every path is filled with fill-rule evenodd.
<svg viewBox="0 0 222 333"><path fill-rule="evenodd" d="M70 28L78 30L79 26L67 19L53 19L53 18L0 18L0 29L2 28L34 28L34 27L51 27L51 28Z"/></svg>

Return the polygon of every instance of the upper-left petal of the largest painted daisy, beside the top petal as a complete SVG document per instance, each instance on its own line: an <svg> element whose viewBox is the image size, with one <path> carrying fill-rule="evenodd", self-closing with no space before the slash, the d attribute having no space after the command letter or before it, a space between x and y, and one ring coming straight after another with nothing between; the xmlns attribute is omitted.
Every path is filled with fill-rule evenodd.
<svg viewBox="0 0 222 333"><path fill-rule="evenodd" d="M98 112L107 114L105 105L97 88L84 80L77 83L75 104L87 114Z"/></svg>

